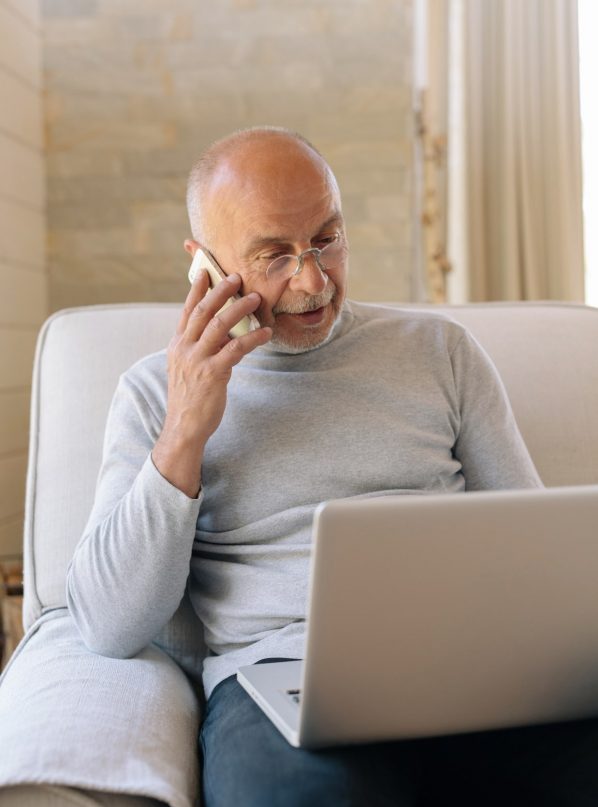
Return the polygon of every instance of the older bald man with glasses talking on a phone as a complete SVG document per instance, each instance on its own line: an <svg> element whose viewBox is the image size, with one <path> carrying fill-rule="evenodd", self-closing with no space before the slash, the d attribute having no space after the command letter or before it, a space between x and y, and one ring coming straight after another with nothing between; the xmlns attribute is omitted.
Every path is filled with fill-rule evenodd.
<svg viewBox="0 0 598 807"><path fill-rule="evenodd" d="M243 664L302 657L323 499L541 483L467 332L434 314L346 302L338 185L302 137L261 128L219 141L191 172L188 207L185 248L209 251L228 277L210 289L200 274L168 351L119 384L68 577L84 640L135 654L188 582L210 651L208 807L407 805L438 782L461 802L553 803L538 795L550 781L537 775L546 733L307 752L237 685ZM231 338L249 313L261 327ZM548 745L559 748L555 736Z"/></svg>

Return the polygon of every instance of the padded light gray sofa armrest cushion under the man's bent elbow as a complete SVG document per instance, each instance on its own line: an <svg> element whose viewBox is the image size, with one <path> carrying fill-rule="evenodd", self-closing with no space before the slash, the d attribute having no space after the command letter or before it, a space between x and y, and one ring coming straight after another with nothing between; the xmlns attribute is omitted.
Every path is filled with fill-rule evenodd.
<svg viewBox="0 0 598 807"><path fill-rule="evenodd" d="M27 633L0 686L0 787L59 784L191 807L196 695L160 649L89 652L66 609Z"/></svg>

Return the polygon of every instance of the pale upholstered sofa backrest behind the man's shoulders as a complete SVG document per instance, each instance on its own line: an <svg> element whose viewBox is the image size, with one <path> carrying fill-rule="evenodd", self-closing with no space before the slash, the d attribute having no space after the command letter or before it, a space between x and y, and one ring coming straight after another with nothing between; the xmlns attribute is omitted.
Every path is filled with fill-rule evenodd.
<svg viewBox="0 0 598 807"><path fill-rule="evenodd" d="M494 359L547 485L598 483L598 309L566 304L435 308ZM65 575L91 508L118 377L168 344L175 304L69 309L40 332L25 516L27 626L64 607Z"/></svg>

